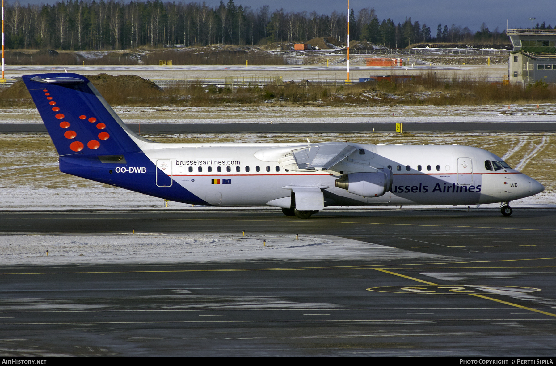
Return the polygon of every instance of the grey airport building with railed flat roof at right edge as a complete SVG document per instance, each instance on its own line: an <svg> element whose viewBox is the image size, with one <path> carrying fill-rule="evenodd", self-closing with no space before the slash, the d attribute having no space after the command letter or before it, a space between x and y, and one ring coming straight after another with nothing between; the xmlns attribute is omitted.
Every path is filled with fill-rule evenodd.
<svg viewBox="0 0 556 366"><path fill-rule="evenodd" d="M556 30L509 29L506 34L514 46L508 60L510 84L556 83Z"/></svg>

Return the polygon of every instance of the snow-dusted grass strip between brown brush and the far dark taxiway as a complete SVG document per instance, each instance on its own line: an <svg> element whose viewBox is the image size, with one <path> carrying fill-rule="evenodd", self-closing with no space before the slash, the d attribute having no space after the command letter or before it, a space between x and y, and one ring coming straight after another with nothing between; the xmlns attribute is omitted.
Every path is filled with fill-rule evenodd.
<svg viewBox="0 0 556 366"><path fill-rule="evenodd" d="M125 123L556 122L556 104L468 106L115 107ZM512 113L501 114L501 113ZM35 108L0 109L0 123L42 123Z"/></svg>

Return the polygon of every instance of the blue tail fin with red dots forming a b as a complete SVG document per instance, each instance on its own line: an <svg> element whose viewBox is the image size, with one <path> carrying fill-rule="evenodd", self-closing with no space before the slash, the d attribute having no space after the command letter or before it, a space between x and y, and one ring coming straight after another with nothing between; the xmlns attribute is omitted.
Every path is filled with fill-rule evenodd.
<svg viewBox="0 0 556 366"><path fill-rule="evenodd" d="M25 75L23 81L59 155L138 152L136 135L122 123L98 90L78 74Z"/></svg>

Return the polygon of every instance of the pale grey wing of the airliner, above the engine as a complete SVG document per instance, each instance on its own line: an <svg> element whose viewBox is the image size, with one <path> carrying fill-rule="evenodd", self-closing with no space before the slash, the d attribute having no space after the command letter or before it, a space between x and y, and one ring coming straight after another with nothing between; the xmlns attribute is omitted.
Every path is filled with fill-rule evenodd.
<svg viewBox="0 0 556 366"><path fill-rule="evenodd" d="M317 143L292 150L291 155L299 169L326 170L344 160L355 150L356 147L347 143Z"/></svg>

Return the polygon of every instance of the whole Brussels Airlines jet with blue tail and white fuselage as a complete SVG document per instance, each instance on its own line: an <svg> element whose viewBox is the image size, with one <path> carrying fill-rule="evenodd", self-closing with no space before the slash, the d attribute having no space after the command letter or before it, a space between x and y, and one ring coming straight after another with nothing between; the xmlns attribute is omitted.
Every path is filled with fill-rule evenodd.
<svg viewBox="0 0 556 366"><path fill-rule="evenodd" d="M502 203L542 192L486 150L459 145L164 144L133 133L77 74L23 76L62 172L170 201L275 206L309 218L326 206Z"/></svg>

